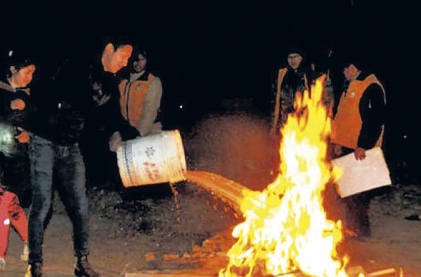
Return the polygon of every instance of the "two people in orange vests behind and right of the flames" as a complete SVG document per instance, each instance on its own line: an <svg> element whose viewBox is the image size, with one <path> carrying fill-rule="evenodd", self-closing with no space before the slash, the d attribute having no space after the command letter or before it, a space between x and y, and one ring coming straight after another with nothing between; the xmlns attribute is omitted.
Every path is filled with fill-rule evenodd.
<svg viewBox="0 0 421 277"><path fill-rule="evenodd" d="M344 84L340 96L338 95L339 101L334 101L331 69L316 74L312 70L306 71L301 66L302 61L302 52L291 49L287 55L287 67L278 71L277 80L272 86L270 134L277 135L288 114L294 111L293 102L296 93L310 90L310 85L315 79L321 74L326 74L323 101L333 119L330 159L353 152L356 160L364 160L368 149L382 146L386 106L386 94L382 84L374 74L362 70L361 62L344 61L342 63ZM370 234L369 201L369 192L352 195L342 200L345 204L347 228L359 237Z"/></svg>

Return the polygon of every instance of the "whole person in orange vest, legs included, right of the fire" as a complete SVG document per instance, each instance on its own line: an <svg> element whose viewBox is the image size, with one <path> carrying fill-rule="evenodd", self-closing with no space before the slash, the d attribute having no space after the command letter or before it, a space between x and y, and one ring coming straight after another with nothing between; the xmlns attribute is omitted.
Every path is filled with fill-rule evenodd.
<svg viewBox="0 0 421 277"><path fill-rule="evenodd" d="M344 68L345 89L339 100L332 128L332 156L354 152L357 160L366 150L381 147L384 133L386 94L374 74L367 74L350 63ZM369 236L368 205L371 191L346 197L348 229L359 237Z"/></svg>

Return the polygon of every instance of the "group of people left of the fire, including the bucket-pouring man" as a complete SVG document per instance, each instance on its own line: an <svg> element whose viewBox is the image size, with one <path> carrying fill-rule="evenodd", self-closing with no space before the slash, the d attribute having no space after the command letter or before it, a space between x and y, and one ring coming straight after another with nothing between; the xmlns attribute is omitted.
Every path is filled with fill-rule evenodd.
<svg viewBox="0 0 421 277"><path fill-rule="evenodd" d="M146 64L146 51L130 44L108 43L101 58L92 63L69 56L53 74L43 75L48 70L42 63L9 52L6 76L0 84L5 99L3 122L14 127L13 136L24 148L22 155L29 158L32 189L28 237L22 235L29 246L25 277L43 275L42 245L51 217L53 183L73 224L75 275L100 276L88 262L88 199L81 137L86 123L100 111L107 115L101 120L109 121L103 139L108 140L111 151L116 151L122 140L161 130L161 82ZM8 210L5 213L11 215ZM15 210L18 213L13 210L12 219L26 218ZM7 238L1 243L6 248ZM4 267L4 255L0 259Z"/></svg>

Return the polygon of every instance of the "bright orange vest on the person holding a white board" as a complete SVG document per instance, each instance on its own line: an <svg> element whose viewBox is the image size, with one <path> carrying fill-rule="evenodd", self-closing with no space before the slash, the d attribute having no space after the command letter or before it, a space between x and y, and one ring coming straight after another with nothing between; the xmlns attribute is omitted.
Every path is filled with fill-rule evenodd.
<svg viewBox="0 0 421 277"><path fill-rule="evenodd" d="M338 110L333 120L333 132L331 141L342 146L356 149L358 147L358 137L360 136L363 121L360 116L360 99L371 84L377 84L383 91L383 99L386 102L386 94L383 86L374 76L369 75L363 81L354 80L349 84L346 94L343 93L339 100ZM381 146L383 139L381 134L375 146Z"/></svg>

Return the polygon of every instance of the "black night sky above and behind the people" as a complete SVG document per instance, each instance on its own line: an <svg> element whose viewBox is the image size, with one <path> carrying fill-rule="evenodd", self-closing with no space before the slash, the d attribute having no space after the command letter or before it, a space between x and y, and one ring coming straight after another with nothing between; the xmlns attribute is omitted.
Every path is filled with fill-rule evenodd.
<svg viewBox="0 0 421 277"><path fill-rule="evenodd" d="M299 46L306 63L317 65L331 48L336 94L349 56L384 84L386 157L419 177L418 5L277 2L2 3L0 49L31 51L53 68L64 56L90 58L108 39L128 39L147 49L148 66L162 80L164 128L189 130L220 111L222 98L253 98L251 111L267 115L271 77L288 47Z"/></svg>

